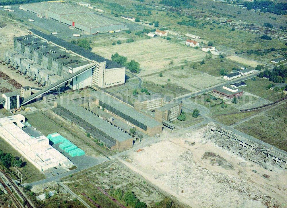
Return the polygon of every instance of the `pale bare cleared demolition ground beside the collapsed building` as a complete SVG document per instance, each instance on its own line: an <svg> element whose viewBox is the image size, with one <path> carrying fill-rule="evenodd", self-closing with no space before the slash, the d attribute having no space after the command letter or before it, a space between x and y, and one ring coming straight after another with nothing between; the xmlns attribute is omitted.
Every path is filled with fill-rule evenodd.
<svg viewBox="0 0 287 208"><path fill-rule="evenodd" d="M169 135L144 151L130 152L130 161L121 161L191 207L286 205L286 171L270 172L245 161L205 140L202 132Z"/></svg>

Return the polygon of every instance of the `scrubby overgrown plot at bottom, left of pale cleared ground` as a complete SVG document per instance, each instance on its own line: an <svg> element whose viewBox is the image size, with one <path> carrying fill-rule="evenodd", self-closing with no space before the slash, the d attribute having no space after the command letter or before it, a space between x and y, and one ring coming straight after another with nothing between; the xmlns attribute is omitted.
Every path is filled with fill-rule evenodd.
<svg viewBox="0 0 287 208"><path fill-rule="evenodd" d="M122 157L126 160L125 155ZM112 192L117 188L120 188L123 192L131 190L137 198L146 203L148 207L157 207L156 202L166 198L164 194L118 161L109 161L103 165L98 165L89 170L74 174L73 177L67 177L63 183L66 183L77 195L83 192L86 193L101 207L113 208L118 206L106 195L98 191L97 186L106 189L110 195L113 195ZM93 207L90 201L85 197L82 198ZM123 200L118 197L115 198L125 205ZM172 207L177 208L179 205L174 202Z"/></svg>

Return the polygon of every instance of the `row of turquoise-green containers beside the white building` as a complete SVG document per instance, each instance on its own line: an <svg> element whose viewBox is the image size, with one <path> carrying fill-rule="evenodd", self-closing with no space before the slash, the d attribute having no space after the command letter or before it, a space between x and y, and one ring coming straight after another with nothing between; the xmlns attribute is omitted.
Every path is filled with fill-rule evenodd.
<svg viewBox="0 0 287 208"><path fill-rule="evenodd" d="M64 150L66 153L69 153L71 157L85 155L85 152L82 149L78 148L76 145L74 145L72 142L70 142L57 132L49 134L47 138L51 140L54 144L62 142L59 147L61 148L61 150Z"/></svg>

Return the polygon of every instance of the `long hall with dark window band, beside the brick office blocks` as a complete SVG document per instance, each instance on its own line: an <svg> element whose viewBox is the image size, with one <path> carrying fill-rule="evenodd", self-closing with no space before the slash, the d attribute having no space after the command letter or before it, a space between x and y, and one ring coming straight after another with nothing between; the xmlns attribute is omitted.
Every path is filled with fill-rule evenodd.
<svg viewBox="0 0 287 208"><path fill-rule="evenodd" d="M127 106L115 97L106 95L103 92L96 91L93 94L96 99L96 105L108 111L112 115L121 118L130 126L134 126L138 130L143 131L149 136L160 134L162 132L162 124L149 116L136 111L135 109Z"/></svg>

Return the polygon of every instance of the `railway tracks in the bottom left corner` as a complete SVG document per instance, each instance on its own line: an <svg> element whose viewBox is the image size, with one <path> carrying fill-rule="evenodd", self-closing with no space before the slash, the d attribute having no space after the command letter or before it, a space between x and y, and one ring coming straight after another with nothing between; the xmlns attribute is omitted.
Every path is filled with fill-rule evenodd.
<svg viewBox="0 0 287 208"><path fill-rule="evenodd" d="M19 187L15 184L15 182L13 181L13 179L2 169L0 169L1 173L7 178L9 184L11 186L13 186L13 189L16 190L16 194L19 194L20 198L23 199L24 203L26 205L26 207L28 208L34 208L34 204L32 204L30 202L30 200L28 200L26 198L26 196L22 193L22 191L19 189ZM1 184L3 184L3 187L7 190L8 194L11 196L13 203L16 205L16 207L22 207L24 208L25 206L22 205L22 202L20 202L20 200L15 196L15 194L10 190L9 187L7 187L5 185L5 182L2 180L2 178L0 178L0 182Z"/></svg>

